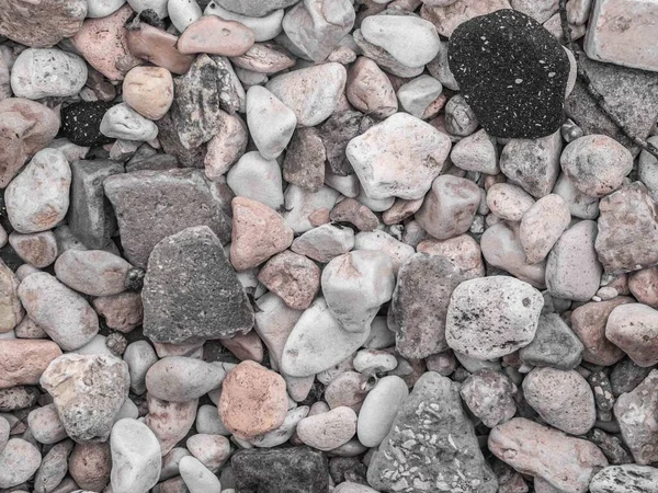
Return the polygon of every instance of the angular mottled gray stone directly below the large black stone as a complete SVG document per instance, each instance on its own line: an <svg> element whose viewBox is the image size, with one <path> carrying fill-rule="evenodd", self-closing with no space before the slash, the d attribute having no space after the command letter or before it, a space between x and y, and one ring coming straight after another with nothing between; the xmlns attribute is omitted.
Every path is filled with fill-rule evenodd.
<svg viewBox="0 0 658 493"><path fill-rule="evenodd" d="M543 197L559 175L561 147L559 131L536 139L512 139L500 154L500 170L533 197Z"/></svg>

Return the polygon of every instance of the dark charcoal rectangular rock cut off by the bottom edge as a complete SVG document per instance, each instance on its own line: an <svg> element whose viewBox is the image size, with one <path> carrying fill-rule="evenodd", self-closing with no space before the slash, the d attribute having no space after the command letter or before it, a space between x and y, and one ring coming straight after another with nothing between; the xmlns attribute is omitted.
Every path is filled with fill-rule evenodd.
<svg viewBox="0 0 658 493"><path fill-rule="evenodd" d="M327 458L308 447L252 448L230 461L236 493L328 493Z"/></svg>

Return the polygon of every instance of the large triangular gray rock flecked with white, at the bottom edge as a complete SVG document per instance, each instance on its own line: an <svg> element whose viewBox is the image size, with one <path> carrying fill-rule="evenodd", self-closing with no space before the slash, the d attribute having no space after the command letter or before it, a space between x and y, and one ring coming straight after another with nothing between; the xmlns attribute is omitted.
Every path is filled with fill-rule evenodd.
<svg viewBox="0 0 658 493"><path fill-rule="evenodd" d="M433 371L418 379L373 455L367 480L387 492L497 491L498 481L462 409L457 383Z"/></svg>

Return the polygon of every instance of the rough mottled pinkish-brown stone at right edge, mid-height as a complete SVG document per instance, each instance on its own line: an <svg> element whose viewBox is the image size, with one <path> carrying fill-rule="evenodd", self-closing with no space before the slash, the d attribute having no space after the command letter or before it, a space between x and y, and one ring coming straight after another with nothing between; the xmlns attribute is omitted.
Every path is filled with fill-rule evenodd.
<svg viewBox="0 0 658 493"><path fill-rule="evenodd" d="M656 204L640 182L601 199L595 249L609 274L638 271L658 263Z"/></svg>

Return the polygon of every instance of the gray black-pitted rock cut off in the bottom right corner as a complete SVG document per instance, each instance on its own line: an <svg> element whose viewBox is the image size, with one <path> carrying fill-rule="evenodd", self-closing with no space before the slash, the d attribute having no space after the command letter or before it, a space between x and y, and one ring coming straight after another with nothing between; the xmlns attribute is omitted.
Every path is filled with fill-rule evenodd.
<svg viewBox="0 0 658 493"><path fill-rule="evenodd" d="M649 493L658 491L658 469L626 463L610 466L592 478L591 493Z"/></svg>

